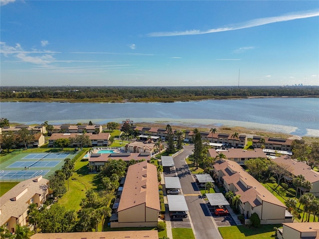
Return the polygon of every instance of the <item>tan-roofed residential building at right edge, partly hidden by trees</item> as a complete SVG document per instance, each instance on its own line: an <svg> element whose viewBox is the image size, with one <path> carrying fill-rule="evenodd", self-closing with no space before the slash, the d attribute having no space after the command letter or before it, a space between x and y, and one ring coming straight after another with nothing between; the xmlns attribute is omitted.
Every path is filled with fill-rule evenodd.
<svg viewBox="0 0 319 239"><path fill-rule="evenodd" d="M303 192L313 193L315 196L319 196L319 172L312 170L309 165L301 161L295 161L290 156L284 155L278 158L272 159L278 165L286 165L291 169L290 176L286 177L286 180L292 181L298 175L304 175L305 179L312 183L312 189L307 190L300 188Z"/></svg>

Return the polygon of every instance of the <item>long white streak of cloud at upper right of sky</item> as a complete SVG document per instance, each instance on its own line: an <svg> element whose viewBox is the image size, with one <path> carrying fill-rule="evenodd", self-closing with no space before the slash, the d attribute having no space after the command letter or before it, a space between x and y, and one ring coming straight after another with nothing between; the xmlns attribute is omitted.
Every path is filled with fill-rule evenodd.
<svg viewBox="0 0 319 239"><path fill-rule="evenodd" d="M193 29L193 30L186 30L186 31L152 32L152 33L147 34L147 36L150 36L150 37L183 36L183 35L207 34L207 33L221 32L221 31L233 31L233 30L239 30L239 29L244 29L244 28L250 28L250 27L254 27L254 26L266 25L266 24L275 23L275 22L290 21L290 20L308 18L308 17L314 17L314 16L319 16L318 9L290 13L290 14L281 15L281 16L257 18L257 19L253 19L250 21L235 24L234 26L208 29L205 31Z"/></svg>

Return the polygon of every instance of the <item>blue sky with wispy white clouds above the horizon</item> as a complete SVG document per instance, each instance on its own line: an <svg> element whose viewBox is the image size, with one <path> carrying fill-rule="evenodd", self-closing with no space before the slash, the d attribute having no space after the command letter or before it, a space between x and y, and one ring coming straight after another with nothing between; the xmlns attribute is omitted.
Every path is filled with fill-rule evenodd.
<svg viewBox="0 0 319 239"><path fill-rule="evenodd" d="M319 85L319 1L0 0L1 86Z"/></svg>

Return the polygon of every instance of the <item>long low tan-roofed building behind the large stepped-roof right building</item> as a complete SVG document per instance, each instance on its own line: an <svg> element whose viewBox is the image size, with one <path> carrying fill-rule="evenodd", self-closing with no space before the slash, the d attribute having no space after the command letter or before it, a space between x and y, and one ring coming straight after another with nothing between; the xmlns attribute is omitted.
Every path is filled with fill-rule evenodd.
<svg viewBox="0 0 319 239"><path fill-rule="evenodd" d="M244 164L247 160L252 158L267 158L267 155L261 148L255 150L244 150L241 148L228 148L227 150L216 150L209 148L207 156L212 158L218 158L218 154L223 153L228 160L235 161L238 164Z"/></svg>

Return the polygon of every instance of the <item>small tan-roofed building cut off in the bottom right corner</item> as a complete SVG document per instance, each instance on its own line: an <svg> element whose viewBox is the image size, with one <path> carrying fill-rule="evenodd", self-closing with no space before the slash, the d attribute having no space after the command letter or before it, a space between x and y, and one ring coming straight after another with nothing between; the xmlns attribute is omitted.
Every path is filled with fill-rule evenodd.
<svg viewBox="0 0 319 239"><path fill-rule="evenodd" d="M283 223L278 239L319 239L319 223Z"/></svg>

